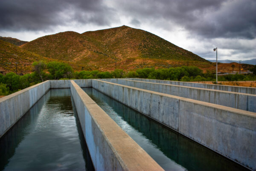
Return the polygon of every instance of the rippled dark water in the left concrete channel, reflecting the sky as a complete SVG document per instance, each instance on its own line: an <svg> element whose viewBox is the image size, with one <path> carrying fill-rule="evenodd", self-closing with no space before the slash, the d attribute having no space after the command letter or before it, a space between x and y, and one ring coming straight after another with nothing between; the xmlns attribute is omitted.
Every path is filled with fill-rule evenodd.
<svg viewBox="0 0 256 171"><path fill-rule="evenodd" d="M0 139L0 170L93 170L70 89L50 90Z"/></svg>

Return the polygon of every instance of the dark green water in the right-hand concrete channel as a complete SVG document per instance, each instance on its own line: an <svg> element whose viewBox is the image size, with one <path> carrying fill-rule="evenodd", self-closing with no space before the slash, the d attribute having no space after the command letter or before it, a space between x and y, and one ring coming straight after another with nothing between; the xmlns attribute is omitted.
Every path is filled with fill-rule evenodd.
<svg viewBox="0 0 256 171"><path fill-rule="evenodd" d="M167 171L247 170L95 89L83 90Z"/></svg>

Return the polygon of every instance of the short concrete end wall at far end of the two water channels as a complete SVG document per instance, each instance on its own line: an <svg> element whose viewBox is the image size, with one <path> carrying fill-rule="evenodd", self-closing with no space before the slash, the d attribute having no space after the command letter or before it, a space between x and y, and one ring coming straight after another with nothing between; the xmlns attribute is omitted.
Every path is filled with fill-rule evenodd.
<svg viewBox="0 0 256 171"><path fill-rule="evenodd" d="M76 79L73 80L80 87L92 87L91 79ZM70 80L50 80L50 88L70 88Z"/></svg>

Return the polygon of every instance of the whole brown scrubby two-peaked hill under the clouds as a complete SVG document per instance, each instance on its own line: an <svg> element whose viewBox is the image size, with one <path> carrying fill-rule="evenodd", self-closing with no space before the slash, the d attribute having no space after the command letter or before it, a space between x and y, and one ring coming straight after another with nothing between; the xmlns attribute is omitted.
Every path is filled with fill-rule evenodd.
<svg viewBox="0 0 256 171"><path fill-rule="evenodd" d="M20 46L52 59L84 64L88 68L135 70L211 63L147 31L127 26L79 34L73 31L43 36Z"/></svg>

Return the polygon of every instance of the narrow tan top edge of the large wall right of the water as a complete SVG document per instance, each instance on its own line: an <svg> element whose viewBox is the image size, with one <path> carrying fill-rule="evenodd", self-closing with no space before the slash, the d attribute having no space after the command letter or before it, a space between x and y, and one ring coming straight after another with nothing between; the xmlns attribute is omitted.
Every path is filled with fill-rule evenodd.
<svg viewBox="0 0 256 171"><path fill-rule="evenodd" d="M198 101L198 100L194 100L194 99L190 99L190 98L183 98L183 97L176 96L176 95L169 95L169 94L165 94L165 93L154 92L154 91L151 91L151 90L145 90L145 89L126 86L126 85L122 85L122 84L111 83L111 82L108 82L108 81L102 81L102 80L97 80L97 79L94 79L94 80L105 82L105 83L108 83L108 84L114 84L114 85L121 86L121 87L127 87L127 88L134 89L134 90L140 90L140 91L147 92L147 93L157 94L157 95L166 96L166 97L170 97L170 98L176 98L176 99L181 100L181 101L186 101L186 102L190 102L190 103L194 103L194 104L203 105L203 106L206 106L206 107L212 107L212 108L216 108L216 109L226 110L228 112L233 112L233 113L237 113L237 114L240 114L240 115L246 115L246 116L256 118L256 112L249 112L249 111L245 111L245 110L241 110L241 109L222 106L222 105L219 105L219 104L212 104L212 103L208 103L208 102L204 102L204 101Z"/></svg>

